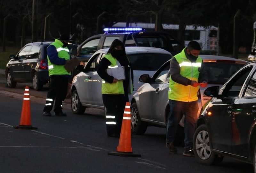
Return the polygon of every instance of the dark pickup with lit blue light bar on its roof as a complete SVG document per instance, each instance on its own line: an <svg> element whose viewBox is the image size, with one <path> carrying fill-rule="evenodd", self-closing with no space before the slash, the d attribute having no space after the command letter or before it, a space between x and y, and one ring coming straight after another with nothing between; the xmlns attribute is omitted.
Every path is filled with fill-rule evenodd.
<svg viewBox="0 0 256 173"><path fill-rule="evenodd" d="M104 31L105 34L94 35L80 44L77 48L77 58L86 62L97 50L109 48L115 39L123 41L125 46L162 48L172 55L179 51L179 41L164 32L145 32L142 28L104 28Z"/></svg>

